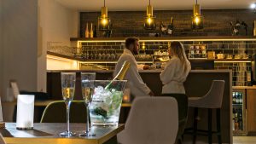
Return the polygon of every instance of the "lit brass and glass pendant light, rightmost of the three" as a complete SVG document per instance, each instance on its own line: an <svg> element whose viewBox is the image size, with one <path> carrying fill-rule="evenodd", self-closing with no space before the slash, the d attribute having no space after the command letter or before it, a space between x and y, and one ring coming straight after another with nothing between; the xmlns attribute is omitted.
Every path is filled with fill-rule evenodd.
<svg viewBox="0 0 256 144"><path fill-rule="evenodd" d="M192 29L202 29L203 28L203 16L201 15L200 5L197 4L197 0L195 0L193 16L192 16Z"/></svg>

